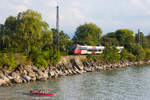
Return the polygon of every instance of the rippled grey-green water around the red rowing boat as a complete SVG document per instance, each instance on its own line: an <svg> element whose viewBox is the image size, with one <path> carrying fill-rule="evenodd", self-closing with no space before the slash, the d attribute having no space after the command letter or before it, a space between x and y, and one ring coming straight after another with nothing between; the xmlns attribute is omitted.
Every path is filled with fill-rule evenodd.
<svg viewBox="0 0 150 100"><path fill-rule="evenodd" d="M30 89L55 96L22 95ZM150 66L121 68L0 88L0 100L150 100Z"/></svg>

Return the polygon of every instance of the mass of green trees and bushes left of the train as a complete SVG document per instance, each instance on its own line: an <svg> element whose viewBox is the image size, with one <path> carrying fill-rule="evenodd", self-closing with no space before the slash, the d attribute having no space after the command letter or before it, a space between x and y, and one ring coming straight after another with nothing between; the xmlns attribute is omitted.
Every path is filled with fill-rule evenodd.
<svg viewBox="0 0 150 100"><path fill-rule="evenodd" d="M29 62L37 67L57 64L61 52L67 52L71 43L69 36L61 31L60 47L56 48L55 35L38 12L27 10L8 17L0 25L0 66L12 69Z"/></svg>

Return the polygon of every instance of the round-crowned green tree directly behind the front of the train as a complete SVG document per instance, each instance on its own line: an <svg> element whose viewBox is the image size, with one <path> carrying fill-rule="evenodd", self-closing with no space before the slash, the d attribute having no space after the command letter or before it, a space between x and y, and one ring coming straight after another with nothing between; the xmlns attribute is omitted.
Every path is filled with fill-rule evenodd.
<svg viewBox="0 0 150 100"><path fill-rule="evenodd" d="M89 23L80 25L75 32L73 41L76 44L98 45L99 34L101 36L102 30L95 24Z"/></svg>

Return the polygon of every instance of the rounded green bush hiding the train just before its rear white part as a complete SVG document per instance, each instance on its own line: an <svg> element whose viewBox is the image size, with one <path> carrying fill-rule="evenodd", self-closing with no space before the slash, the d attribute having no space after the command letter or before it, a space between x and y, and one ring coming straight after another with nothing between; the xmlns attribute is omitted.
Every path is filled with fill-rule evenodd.
<svg viewBox="0 0 150 100"><path fill-rule="evenodd" d="M120 60L120 54L118 54L119 50L115 47L107 47L104 50L104 61L105 62L116 62Z"/></svg>

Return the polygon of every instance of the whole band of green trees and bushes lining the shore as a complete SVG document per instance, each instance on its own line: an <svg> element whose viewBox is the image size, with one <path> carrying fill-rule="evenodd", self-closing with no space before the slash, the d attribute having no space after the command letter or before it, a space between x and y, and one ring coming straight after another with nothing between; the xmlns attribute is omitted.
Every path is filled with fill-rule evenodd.
<svg viewBox="0 0 150 100"><path fill-rule="evenodd" d="M102 36L102 30L93 23L77 27L72 39L60 31L59 45L56 45L57 30L50 29L40 13L29 9L17 16L9 16L4 24L0 24L0 66L12 69L19 64L34 64L37 67L56 65L61 55L70 54L73 44L98 45L99 42L108 47L98 57L106 61L127 59L127 55L128 59L135 60L150 58L150 36L144 36L142 32L134 35L129 29L119 29ZM116 53L113 56L116 58L111 58L117 52L114 46L124 46L124 56Z"/></svg>

